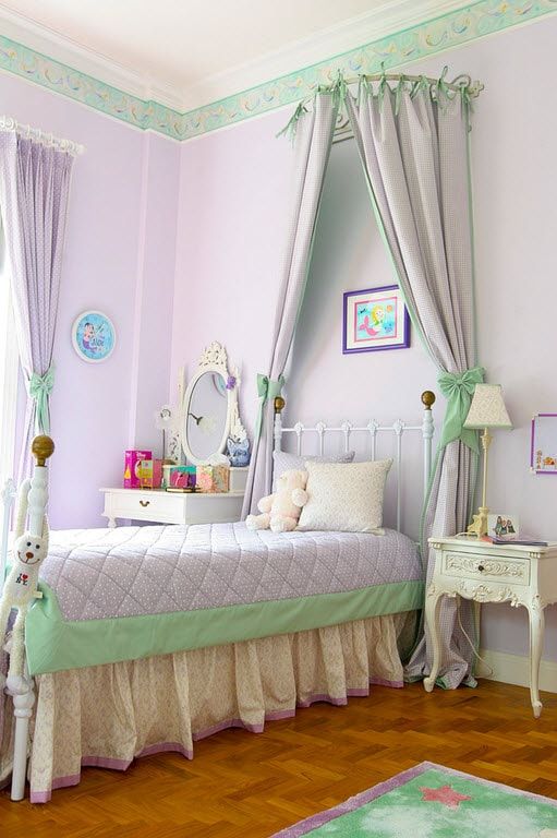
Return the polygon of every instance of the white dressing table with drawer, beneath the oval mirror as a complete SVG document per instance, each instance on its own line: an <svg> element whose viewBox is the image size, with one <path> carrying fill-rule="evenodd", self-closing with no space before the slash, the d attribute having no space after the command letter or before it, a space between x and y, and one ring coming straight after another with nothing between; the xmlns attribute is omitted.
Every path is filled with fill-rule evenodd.
<svg viewBox="0 0 557 838"><path fill-rule="evenodd" d="M150 520L154 524L222 524L240 520L247 467L230 469L230 492L167 492L165 489L100 489L105 494L102 515L108 526L117 518Z"/></svg>

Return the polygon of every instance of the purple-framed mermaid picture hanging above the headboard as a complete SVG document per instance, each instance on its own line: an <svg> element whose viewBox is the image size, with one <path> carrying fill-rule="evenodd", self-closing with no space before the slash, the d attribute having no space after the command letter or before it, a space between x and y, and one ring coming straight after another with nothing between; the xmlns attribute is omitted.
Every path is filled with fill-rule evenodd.
<svg viewBox="0 0 557 838"><path fill-rule="evenodd" d="M410 318L398 285L346 291L342 352L376 352L410 346Z"/></svg>

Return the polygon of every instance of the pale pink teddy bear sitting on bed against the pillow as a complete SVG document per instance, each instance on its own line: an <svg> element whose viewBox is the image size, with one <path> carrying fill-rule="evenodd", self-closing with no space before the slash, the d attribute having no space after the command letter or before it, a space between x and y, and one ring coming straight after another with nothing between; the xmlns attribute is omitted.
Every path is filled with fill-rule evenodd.
<svg viewBox="0 0 557 838"><path fill-rule="evenodd" d="M262 515L249 515L247 529L270 529L290 532L296 528L302 506L307 502L307 471L292 468L277 480L277 491L262 498L257 508Z"/></svg>

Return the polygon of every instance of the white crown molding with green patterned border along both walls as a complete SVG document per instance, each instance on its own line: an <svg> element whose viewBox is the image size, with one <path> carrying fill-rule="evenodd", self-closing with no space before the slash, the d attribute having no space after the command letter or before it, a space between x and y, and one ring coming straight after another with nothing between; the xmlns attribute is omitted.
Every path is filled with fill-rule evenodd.
<svg viewBox="0 0 557 838"><path fill-rule="evenodd" d="M468 5L459 0L440 4L434 0L398 0L396 5L390 5L388 20L387 8L383 9L383 16L379 9L374 14L352 19L259 61L209 76L180 94L31 21L24 25L25 19L13 13L8 15L0 3L0 71L39 84L134 128L184 141L294 104L311 96L319 85L330 84L339 72L353 76L377 73L382 65L386 70L402 69L476 38L555 14L557 0L476 0ZM423 20L434 11L435 17ZM403 28L393 31L402 23ZM364 35L373 39L342 51L356 36L362 44ZM23 46L22 41L31 46ZM60 58L50 58L48 53L53 51ZM334 52L334 57L319 58L325 52ZM315 58L314 63L307 64ZM302 62L303 69L288 70ZM278 75L274 76L275 73ZM262 77L273 81L259 83L257 80ZM217 93L238 91L240 84L247 85L241 93L225 96ZM221 98L215 99L218 95ZM210 104L198 107L184 105L184 101L207 100ZM184 107L190 109L183 112Z"/></svg>

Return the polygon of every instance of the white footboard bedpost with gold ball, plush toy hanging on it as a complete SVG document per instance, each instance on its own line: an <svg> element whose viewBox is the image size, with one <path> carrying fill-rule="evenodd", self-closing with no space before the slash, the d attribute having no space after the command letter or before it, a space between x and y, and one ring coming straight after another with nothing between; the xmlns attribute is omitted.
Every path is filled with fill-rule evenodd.
<svg viewBox="0 0 557 838"><path fill-rule="evenodd" d="M50 436L35 436L31 450L36 459L36 465L33 469L28 493L27 530L33 536L41 536L48 503L48 469L46 462L55 451L55 443ZM29 719L33 716L33 706L35 704L34 683L33 679L28 675L27 665L25 665L25 679L27 681L27 691L25 693L12 694L13 715L15 716L12 800L23 800L25 795Z"/></svg>

